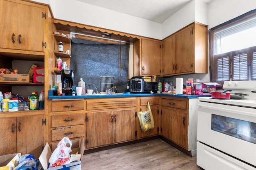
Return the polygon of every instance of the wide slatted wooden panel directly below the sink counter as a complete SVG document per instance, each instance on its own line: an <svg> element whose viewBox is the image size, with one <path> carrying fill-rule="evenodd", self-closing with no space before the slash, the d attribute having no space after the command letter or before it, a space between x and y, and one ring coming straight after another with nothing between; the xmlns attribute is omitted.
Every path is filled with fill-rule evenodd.
<svg viewBox="0 0 256 170"><path fill-rule="evenodd" d="M88 100L87 110L97 109L116 109L124 107L136 107L136 98L118 98L118 99L97 99Z"/></svg>

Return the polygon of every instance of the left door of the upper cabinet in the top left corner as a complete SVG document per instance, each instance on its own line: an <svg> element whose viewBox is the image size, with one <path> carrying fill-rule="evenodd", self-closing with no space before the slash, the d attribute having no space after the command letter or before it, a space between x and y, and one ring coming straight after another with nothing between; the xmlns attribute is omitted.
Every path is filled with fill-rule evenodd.
<svg viewBox="0 0 256 170"><path fill-rule="evenodd" d="M17 3L0 1L0 48L17 48ZM12 39L13 38L13 39Z"/></svg>

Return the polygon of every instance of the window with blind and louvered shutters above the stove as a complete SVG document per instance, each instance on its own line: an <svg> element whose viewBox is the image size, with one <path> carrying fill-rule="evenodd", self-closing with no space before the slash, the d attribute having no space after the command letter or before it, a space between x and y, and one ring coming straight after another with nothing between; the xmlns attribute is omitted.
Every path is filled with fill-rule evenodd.
<svg viewBox="0 0 256 170"><path fill-rule="evenodd" d="M211 81L256 80L256 10L210 29Z"/></svg>

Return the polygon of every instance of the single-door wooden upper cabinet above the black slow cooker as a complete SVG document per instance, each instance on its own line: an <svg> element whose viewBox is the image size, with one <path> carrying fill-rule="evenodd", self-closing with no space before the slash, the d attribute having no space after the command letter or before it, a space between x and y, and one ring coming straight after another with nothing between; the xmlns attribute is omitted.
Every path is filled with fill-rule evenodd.
<svg viewBox="0 0 256 170"><path fill-rule="evenodd" d="M133 76L161 76L161 41L142 38L133 47Z"/></svg>

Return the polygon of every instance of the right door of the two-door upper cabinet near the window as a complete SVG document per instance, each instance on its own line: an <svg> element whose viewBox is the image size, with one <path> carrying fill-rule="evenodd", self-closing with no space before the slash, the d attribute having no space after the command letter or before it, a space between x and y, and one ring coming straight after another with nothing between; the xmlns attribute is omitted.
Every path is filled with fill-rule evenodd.
<svg viewBox="0 0 256 170"><path fill-rule="evenodd" d="M192 27L176 35L176 73L192 72Z"/></svg>

